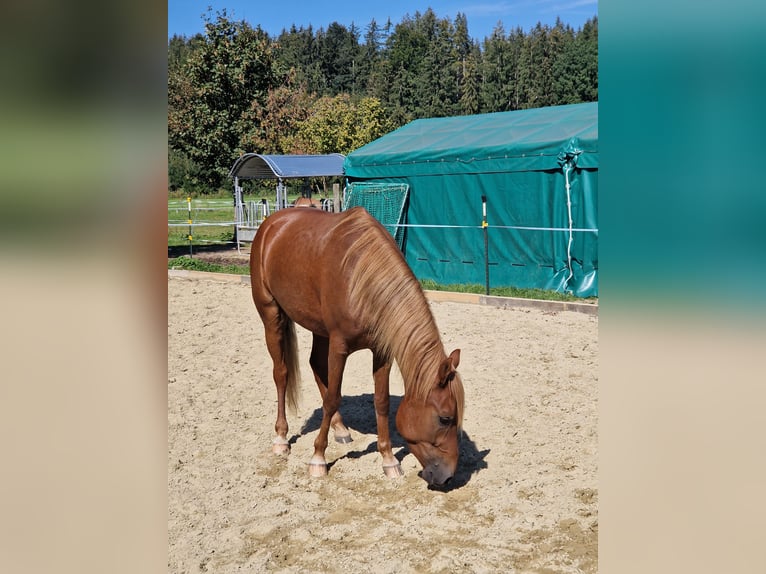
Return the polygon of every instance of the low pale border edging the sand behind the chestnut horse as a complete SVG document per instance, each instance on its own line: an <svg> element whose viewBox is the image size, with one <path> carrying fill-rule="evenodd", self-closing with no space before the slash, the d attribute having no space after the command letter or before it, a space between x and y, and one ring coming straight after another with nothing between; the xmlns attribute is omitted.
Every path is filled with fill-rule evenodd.
<svg viewBox="0 0 766 574"><path fill-rule="evenodd" d="M206 271L190 271L188 269L168 269L168 277L178 279L207 279L225 283L244 283L250 285L249 275L233 275L229 273L208 273ZM478 293L454 293L452 291L425 290L426 297L431 301L447 301L450 303L470 303L473 305L489 305L501 308L528 308L542 311L574 311L598 316L598 304L576 303L571 301L544 301L542 299L521 299L519 297L494 297Z"/></svg>

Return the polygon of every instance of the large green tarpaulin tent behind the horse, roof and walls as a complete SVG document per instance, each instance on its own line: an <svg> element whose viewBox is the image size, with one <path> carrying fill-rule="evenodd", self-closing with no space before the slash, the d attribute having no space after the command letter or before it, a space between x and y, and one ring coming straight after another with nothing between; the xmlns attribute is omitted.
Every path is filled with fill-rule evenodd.
<svg viewBox="0 0 766 574"><path fill-rule="evenodd" d="M343 169L352 194L408 189L418 279L598 296L598 102L415 120Z"/></svg>

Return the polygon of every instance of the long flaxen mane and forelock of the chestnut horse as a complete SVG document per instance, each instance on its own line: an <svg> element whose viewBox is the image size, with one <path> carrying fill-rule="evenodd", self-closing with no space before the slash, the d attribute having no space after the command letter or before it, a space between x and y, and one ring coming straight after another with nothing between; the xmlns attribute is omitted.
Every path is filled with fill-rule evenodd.
<svg viewBox="0 0 766 574"><path fill-rule="evenodd" d="M353 237L353 248L341 262L342 268L350 271L349 304L368 325L376 349L396 359L405 393L424 401L445 358L431 307L386 229L362 209L347 214L336 231ZM460 426L464 402L460 375L456 374L449 385Z"/></svg>

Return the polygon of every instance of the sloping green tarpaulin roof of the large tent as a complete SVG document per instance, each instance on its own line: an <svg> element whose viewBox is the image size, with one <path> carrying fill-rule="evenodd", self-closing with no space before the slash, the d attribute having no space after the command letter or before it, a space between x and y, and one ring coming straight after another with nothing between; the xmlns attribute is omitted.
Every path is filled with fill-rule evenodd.
<svg viewBox="0 0 766 574"><path fill-rule="evenodd" d="M598 102L410 122L346 158L348 177L598 167Z"/></svg>

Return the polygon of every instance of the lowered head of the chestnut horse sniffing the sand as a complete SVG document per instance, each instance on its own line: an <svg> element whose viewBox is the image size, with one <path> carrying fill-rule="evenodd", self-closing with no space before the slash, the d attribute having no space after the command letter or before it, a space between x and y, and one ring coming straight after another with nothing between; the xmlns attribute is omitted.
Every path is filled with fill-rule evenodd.
<svg viewBox="0 0 766 574"><path fill-rule="evenodd" d="M445 486L457 469L464 401L459 362L457 349L439 366L425 400L405 394L396 413L396 428L423 465L429 486Z"/></svg>

